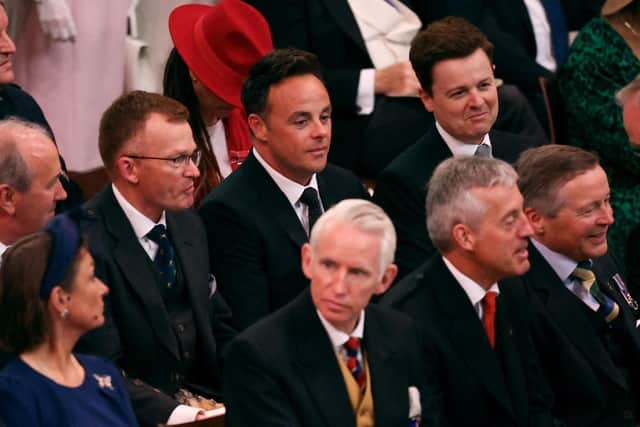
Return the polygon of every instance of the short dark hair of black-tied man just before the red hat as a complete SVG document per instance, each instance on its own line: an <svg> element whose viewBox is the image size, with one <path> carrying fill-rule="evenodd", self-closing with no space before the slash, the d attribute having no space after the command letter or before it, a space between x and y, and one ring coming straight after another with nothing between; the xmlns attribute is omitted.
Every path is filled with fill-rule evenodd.
<svg viewBox="0 0 640 427"><path fill-rule="evenodd" d="M274 49L251 67L242 84L242 105L248 114L262 114L267 108L271 86L282 80L312 74L322 80L318 57L304 50Z"/></svg>

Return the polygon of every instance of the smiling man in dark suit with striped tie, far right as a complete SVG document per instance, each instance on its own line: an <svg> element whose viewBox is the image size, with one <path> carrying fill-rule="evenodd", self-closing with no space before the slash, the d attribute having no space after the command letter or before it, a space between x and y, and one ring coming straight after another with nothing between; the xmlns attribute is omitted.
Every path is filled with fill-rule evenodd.
<svg viewBox="0 0 640 427"><path fill-rule="evenodd" d="M554 415L571 427L636 426L638 305L607 252L607 175L593 154L564 145L527 150L516 167L534 233L530 328Z"/></svg>

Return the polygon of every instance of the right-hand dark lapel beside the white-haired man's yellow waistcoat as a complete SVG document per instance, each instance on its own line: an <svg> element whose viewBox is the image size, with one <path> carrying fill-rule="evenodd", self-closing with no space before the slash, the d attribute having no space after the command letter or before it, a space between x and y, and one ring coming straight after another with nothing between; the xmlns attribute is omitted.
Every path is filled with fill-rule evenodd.
<svg viewBox="0 0 640 427"><path fill-rule="evenodd" d="M401 396L394 395L396 390L400 389L395 384L398 380L404 380L403 376L397 376L397 372L402 372L405 367L397 366L399 362L394 357L396 350L389 346L389 342L386 339L385 330L387 325L379 322L374 314L371 311L367 311L365 317L364 348L367 353L369 373L371 375L371 391L376 425L390 426L397 419L394 414L398 414L402 410L398 409L398 405L407 401L403 400ZM371 345L368 345L369 343ZM402 362L400 361L400 363ZM407 413L408 419L409 409L408 405L406 406L407 409L404 412Z"/></svg>

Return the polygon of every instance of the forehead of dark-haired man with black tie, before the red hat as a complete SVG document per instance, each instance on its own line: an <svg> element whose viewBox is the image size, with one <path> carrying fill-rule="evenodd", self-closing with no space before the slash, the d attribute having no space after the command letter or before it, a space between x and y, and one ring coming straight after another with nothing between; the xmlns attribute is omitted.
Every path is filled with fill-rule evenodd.
<svg viewBox="0 0 640 427"><path fill-rule="evenodd" d="M325 108L329 93L313 74L287 77L271 86L267 96L267 113L287 114L295 111L311 111Z"/></svg>

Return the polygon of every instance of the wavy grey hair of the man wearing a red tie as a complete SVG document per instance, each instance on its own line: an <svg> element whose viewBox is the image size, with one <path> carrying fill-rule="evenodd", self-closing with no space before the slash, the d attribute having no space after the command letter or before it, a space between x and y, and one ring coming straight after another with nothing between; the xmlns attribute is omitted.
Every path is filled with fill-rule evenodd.
<svg viewBox="0 0 640 427"><path fill-rule="evenodd" d="M508 163L491 158L452 157L440 163L427 189L427 230L442 253L453 248L451 230L456 224L476 228L486 206L471 192L474 188L513 188L518 174Z"/></svg>

